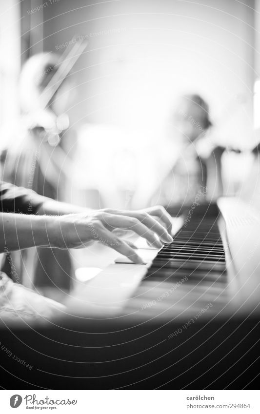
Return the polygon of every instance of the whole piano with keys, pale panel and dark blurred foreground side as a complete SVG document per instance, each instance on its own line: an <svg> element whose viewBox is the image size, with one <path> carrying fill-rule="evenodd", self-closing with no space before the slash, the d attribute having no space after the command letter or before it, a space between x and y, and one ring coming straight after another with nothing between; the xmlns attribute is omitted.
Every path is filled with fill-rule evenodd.
<svg viewBox="0 0 260 414"><path fill-rule="evenodd" d="M144 265L89 247L63 315L2 327L2 343L33 365L3 358L11 388L255 389L260 215L231 197L187 217L173 218L160 251L138 241Z"/></svg>

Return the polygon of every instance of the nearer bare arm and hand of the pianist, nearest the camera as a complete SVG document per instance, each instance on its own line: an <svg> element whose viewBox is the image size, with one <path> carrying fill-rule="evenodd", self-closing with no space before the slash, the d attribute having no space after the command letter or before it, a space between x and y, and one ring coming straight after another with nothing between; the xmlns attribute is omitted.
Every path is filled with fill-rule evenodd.
<svg viewBox="0 0 260 414"><path fill-rule="evenodd" d="M157 215L160 214L158 208ZM135 263L140 256L113 230L134 231L160 249L172 237L159 221L146 212L97 210L91 214L78 213L63 216L35 216L0 213L0 252L25 249L32 246L60 249L82 248L92 240L100 241Z"/></svg>

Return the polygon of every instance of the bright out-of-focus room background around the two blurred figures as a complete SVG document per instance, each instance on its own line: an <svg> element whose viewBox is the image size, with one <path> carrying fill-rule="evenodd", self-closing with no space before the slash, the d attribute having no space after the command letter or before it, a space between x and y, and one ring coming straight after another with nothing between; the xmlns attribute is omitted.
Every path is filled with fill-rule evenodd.
<svg viewBox="0 0 260 414"><path fill-rule="evenodd" d="M259 9L254 0L1 2L1 146L19 117L24 62L41 52L62 56L76 36L88 45L69 75L67 113L78 138L68 201L124 208L143 182L153 186L181 94L209 103L214 141L253 148L260 140ZM237 158L229 154L225 167L230 193L250 164L240 155L238 169ZM134 206L142 204L145 197Z"/></svg>

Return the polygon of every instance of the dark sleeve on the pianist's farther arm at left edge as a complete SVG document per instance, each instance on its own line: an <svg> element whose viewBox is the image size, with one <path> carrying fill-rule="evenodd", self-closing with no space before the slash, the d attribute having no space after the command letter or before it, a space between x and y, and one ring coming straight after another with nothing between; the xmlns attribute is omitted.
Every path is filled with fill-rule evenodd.
<svg viewBox="0 0 260 414"><path fill-rule="evenodd" d="M0 181L0 207L2 213L36 214L45 197L32 190Z"/></svg>

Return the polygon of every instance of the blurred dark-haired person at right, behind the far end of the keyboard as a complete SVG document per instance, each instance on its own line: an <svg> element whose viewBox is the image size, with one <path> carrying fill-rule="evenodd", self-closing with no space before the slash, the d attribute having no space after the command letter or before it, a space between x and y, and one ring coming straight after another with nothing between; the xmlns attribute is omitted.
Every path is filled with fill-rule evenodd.
<svg viewBox="0 0 260 414"><path fill-rule="evenodd" d="M221 155L224 148L211 143L209 106L199 95L182 96L173 116L175 160L151 200L178 215L196 200L222 195ZM200 201L199 201L200 200Z"/></svg>

